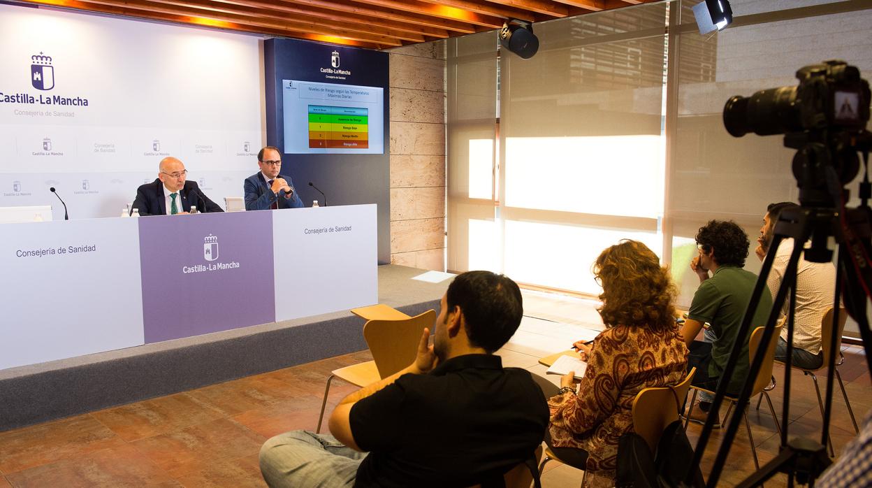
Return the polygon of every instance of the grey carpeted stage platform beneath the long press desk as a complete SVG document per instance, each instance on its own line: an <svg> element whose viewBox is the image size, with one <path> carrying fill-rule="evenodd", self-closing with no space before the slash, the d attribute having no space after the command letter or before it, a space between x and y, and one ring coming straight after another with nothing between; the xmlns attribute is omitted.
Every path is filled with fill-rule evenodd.
<svg viewBox="0 0 872 488"><path fill-rule="evenodd" d="M378 303L409 315L438 312L451 276L413 279L423 273L379 266ZM361 351L363 325L348 311L325 313L3 369L0 431Z"/></svg>

